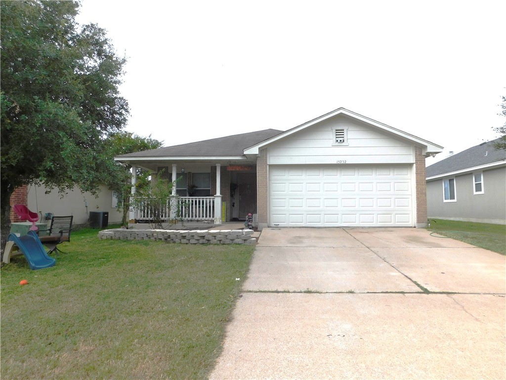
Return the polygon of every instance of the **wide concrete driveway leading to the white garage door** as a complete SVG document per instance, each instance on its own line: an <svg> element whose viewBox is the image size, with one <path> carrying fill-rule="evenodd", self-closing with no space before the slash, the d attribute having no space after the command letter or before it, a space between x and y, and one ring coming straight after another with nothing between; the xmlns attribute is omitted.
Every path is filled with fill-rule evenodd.
<svg viewBox="0 0 506 380"><path fill-rule="evenodd" d="M505 263L422 229L264 229L210 378L506 378Z"/></svg>

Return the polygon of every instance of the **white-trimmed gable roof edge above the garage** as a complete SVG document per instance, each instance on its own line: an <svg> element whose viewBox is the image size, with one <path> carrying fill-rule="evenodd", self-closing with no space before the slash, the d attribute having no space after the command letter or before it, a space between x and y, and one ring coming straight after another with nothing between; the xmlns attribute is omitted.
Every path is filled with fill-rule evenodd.
<svg viewBox="0 0 506 380"><path fill-rule="evenodd" d="M438 153L441 153L441 151L443 151L443 147L440 146L440 145L437 145L433 142L430 142L430 141L427 141L427 140L424 140L420 137L416 137L414 135L411 135L407 132L403 132L399 129L396 129L394 127L390 127L386 124L383 124L383 123L380 123L380 122L377 122L375 120L372 120L372 119L369 119L365 116L362 116L362 115L359 115L358 113L355 113L353 111L350 111L346 108L338 108L338 109L334 109L333 111L331 112L328 112L328 113L325 113L325 115L322 115L316 119L313 119L313 120L310 120L309 122L306 122L304 124L301 124L297 127L294 127L292 129L289 129L285 132L282 132L276 136L273 136L271 137L270 139L267 139L265 141L262 141L262 142L259 142L257 144L254 144L254 145L251 145L250 147L248 147L247 149L244 149L244 154L245 155L258 155L259 154L259 151L260 151L260 148L262 148L263 146L267 145L267 144L270 144L272 142L275 142L279 139L282 139L286 136L289 136L293 133L296 133L296 132L299 132L303 129L306 129L316 123L320 123L326 119L329 119L329 118L332 118L334 116L337 116L337 115L345 115L345 116L348 116L352 119L355 119L355 120L359 120L359 121L362 121L364 123L367 123L368 125L382 131L382 132L386 132L387 134L391 134L391 135L394 135L395 137L397 138L401 138L401 139L404 139L404 140L408 140L410 141L411 143L415 143L419 146L421 146L423 148L423 154L426 155L426 156L429 156L431 154L438 154Z"/></svg>

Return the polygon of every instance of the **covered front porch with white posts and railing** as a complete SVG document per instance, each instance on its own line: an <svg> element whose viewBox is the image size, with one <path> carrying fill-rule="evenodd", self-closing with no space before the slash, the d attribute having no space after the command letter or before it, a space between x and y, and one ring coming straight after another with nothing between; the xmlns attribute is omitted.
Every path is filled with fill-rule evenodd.
<svg viewBox="0 0 506 380"><path fill-rule="evenodd" d="M132 226L154 220L166 222L172 229L175 223L203 223L219 226L224 222L245 219L248 213L257 213L257 176L255 165L227 163L185 162L171 166L151 166L153 173L164 173L163 179L173 182L172 195L165 205L151 207L148 199L137 202L130 211ZM142 166L147 169L146 166ZM137 167L132 170L132 195L136 192ZM176 179L176 180L173 180ZM191 189L191 192L190 192ZM195 190L196 189L196 190ZM212 195L214 194L214 195ZM190 196L192 195L192 196Z"/></svg>

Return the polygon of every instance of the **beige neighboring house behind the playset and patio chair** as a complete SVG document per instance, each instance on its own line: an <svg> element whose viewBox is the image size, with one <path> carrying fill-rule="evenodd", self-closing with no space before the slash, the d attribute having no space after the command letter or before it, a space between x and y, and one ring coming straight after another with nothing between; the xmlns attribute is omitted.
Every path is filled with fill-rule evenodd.
<svg viewBox="0 0 506 380"><path fill-rule="evenodd" d="M46 191L49 193L46 194ZM121 212L118 212L117 199L106 187L101 186L98 197L91 193L81 193L78 188L68 191L63 196L58 189L49 191L44 185L24 185L16 189L11 197L11 206L20 203L28 206L28 209L39 214L40 221L46 219L46 213L57 216L73 215L73 224L85 225L88 223L90 211L107 211L109 223L120 223ZM19 218L11 211L11 221L19 221Z"/></svg>

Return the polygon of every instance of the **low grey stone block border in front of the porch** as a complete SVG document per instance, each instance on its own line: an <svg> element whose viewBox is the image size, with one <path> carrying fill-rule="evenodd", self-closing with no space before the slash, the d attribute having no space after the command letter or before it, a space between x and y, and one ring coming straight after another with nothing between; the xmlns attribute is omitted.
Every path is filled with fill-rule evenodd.
<svg viewBox="0 0 506 380"><path fill-rule="evenodd" d="M253 230L127 230L112 229L98 233L99 239L155 240L181 244L256 245Z"/></svg>

